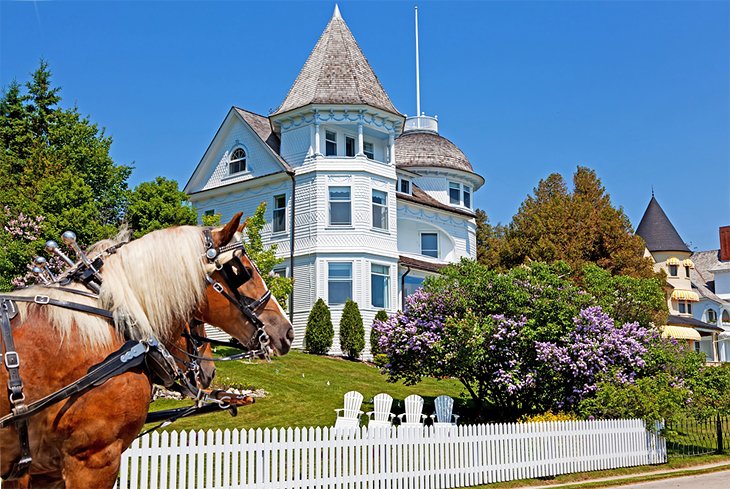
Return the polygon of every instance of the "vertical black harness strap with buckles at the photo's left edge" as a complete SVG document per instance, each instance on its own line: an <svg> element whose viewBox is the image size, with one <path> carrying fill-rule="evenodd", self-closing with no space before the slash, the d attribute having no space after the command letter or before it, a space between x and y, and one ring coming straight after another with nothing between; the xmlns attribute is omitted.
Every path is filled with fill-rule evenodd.
<svg viewBox="0 0 730 489"><path fill-rule="evenodd" d="M30 455L28 420L22 417L28 412L28 406L25 405L23 380L20 378L20 357L18 352L15 351L13 332L10 329L11 310L14 310L14 305L5 298L0 297L0 334L2 334L3 345L5 346L3 363L8 371L8 397L12 405L9 416L19 416L14 424L20 444L20 459L13 464L10 474L6 477L7 479L17 479L28 472L33 459Z"/></svg>

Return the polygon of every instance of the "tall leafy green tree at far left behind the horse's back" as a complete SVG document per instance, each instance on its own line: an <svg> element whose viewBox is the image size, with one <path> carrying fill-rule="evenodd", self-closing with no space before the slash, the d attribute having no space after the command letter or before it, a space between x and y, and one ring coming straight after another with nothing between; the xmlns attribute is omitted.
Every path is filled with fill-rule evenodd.
<svg viewBox="0 0 730 489"><path fill-rule="evenodd" d="M103 130L76 108L60 107L51 78L41 61L29 82L10 83L0 98L2 288L23 284L19 278L46 239L66 229L82 246L108 238L126 208L131 167L114 163ZM27 219L38 229L16 233Z"/></svg>

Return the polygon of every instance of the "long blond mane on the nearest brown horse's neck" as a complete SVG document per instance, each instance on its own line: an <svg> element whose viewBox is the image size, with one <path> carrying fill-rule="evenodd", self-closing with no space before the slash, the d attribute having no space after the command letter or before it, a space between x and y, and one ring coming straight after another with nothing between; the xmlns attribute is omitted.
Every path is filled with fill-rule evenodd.
<svg viewBox="0 0 730 489"><path fill-rule="evenodd" d="M125 241L122 236L104 240L90 249L91 255ZM181 226L155 231L119 248L104 258L103 284L99 300L54 290L32 287L17 295L43 294L107 309L114 314L116 331L128 338L171 339L173 328L191 318L203 300L206 281L201 256L205 251L200 228ZM83 289L83 286L73 285ZM43 307L62 338L76 326L88 346L108 345L113 337L109 323L97 316L60 307L19 304L23 320Z"/></svg>

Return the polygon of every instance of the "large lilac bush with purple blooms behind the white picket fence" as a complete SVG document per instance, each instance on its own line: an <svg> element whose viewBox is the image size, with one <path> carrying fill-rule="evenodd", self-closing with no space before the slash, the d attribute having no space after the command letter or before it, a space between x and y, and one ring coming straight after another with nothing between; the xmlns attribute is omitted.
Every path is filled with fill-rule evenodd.
<svg viewBox="0 0 730 489"><path fill-rule="evenodd" d="M378 363L391 381L458 379L482 419L569 410L601 382L633 383L657 332L615 324L563 276L545 265L497 274L459 264L374 323Z"/></svg>

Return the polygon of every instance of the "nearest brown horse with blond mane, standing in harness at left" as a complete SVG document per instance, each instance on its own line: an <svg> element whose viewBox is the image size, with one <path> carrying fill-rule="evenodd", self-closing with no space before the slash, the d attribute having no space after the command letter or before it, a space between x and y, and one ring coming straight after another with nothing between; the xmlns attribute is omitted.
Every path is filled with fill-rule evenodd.
<svg viewBox="0 0 730 489"><path fill-rule="evenodd" d="M218 326L243 344L260 335L265 326L269 346L274 353L285 354L293 339L291 323L276 300L267 295L245 253L226 247L239 239L240 218L239 213L224 227L208 233L190 226L156 231L119 248L104 258L98 300L52 288L18 292L85 303L114 314L111 324L85 313L18 303L20 314L11 325L26 402L82 377L125 339L155 337L170 346L192 319ZM220 254L206 259L211 248L220 249ZM224 277L224 260L235 263L228 267L227 275L245 278L236 290L226 285L230 280ZM244 312L229 300L231 294L256 304L253 319L250 310ZM267 300L258 302L257 298ZM6 371L0 368L0 384L7 380ZM29 473L9 487L113 487L121 454L144 424L151 386L150 375L137 367L35 414L29 420L33 458ZM0 396L0 417L9 412L7 397ZM20 453L15 427L0 429L0 476L10 473ZM3 489L7 487L6 482Z"/></svg>

